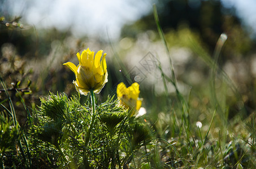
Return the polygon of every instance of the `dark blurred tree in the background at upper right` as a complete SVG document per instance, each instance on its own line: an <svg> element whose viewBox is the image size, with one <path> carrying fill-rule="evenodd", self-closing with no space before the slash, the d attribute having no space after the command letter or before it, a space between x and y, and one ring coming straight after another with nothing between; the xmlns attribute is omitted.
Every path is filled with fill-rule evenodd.
<svg viewBox="0 0 256 169"><path fill-rule="evenodd" d="M242 28L240 19L233 8L225 8L219 0L164 0L157 2L160 25L165 33L171 29L179 29L187 25L198 32L204 43L213 52L220 34L227 33L232 38L228 45L236 46L236 52L246 54L255 42L250 39L249 32ZM138 32L157 30L153 12L142 17L132 25L125 25L122 37L135 37ZM235 37L240 40L237 42ZM233 48L232 47L232 48ZM226 54L230 52L228 47Z"/></svg>

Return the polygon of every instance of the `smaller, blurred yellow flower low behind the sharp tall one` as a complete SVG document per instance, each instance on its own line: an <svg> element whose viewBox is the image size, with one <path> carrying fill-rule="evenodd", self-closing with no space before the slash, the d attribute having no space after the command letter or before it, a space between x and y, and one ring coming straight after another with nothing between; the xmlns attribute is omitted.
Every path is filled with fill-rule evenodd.
<svg viewBox="0 0 256 169"><path fill-rule="evenodd" d="M131 116L141 107L141 100L138 98L138 94L140 94L139 87L140 85L135 82L127 88L122 82L116 88L118 99L120 99L119 104L132 110Z"/></svg>

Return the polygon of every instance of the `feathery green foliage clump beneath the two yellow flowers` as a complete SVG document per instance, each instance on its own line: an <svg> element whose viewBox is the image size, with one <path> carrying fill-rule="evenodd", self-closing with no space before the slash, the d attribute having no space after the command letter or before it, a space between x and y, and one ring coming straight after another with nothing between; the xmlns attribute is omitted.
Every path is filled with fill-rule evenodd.
<svg viewBox="0 0 256 169"><path fill-rule="evenodd" d="M29 131L32 157L42 154L40 158L49 167L123 168L132 163L136 168L133 156L150 146L150 132L144 123L117 106L117 101L109 97L105 103L96 105L94 126L88 133L92 118L89 100L81 105L77 96L68 99L65 94L50 93L41 99ZM141 160L146 163L146 158ZM39 167L33 162L32 165Z"/></svg>

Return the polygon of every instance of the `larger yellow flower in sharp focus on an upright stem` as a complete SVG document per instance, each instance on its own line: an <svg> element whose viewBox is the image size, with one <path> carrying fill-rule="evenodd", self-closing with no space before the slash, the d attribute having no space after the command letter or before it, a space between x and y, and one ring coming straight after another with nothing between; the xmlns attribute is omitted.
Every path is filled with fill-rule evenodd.
<svg viewBox="0 0 256 169"><path fill-rule="evenodd" d="M76 66L71 62L63 64L75 73L76 81L73 81L73 84L75 84L76 90L80 94L87 95L90 91L98 94L107 83L107 64L105 59L107 54L104 54L101 59L102 52L102 50L98 51L94 57L94 51L90 51L88 48L81 55L77 52L76 56L79 60L79 65Z"/></svg>

